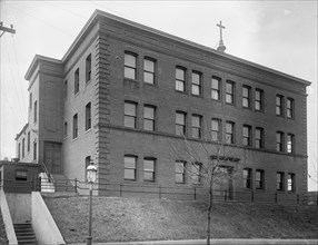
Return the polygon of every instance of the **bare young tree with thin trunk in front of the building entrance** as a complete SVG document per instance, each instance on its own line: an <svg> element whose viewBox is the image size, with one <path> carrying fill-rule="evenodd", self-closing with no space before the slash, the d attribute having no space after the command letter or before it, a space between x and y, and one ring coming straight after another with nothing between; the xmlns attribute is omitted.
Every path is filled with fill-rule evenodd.
<svg viewBox="0 0 318 245"><path fill-rule="evenodd" d="M171 144L172 157L185 160L187 165L180 165L191 179L193 185L208 188L209 203L207 209L207 244L210 244L211 210L216 188L223 188L223 194L232 198L232 180L237 176L239 158L235 156L235 148L222 144L189 140L186 137Z"/></svg>

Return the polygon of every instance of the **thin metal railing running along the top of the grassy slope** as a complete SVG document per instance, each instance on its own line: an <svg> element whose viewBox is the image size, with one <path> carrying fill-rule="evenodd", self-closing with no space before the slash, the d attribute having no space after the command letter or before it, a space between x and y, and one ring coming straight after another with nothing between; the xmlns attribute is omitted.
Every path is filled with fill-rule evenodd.
<svg viewBox="0 0 318 245"><path fill-rule="evenodd" d="M32 192L54 188L57 192L70 192L85 194L89 186L85 182L78 179L56 179L53 187L41 183L39 179L32 182L23 180L7 180L2 179L2 185L8 190L13 192ZM146 184L122 184L110 183L96 185L93 190L98 190L100 195L119 196L119 197L150 197L150 198L166 198L166 199L183 199L183 200L208 200L208 188L203 187L167 187L158 185ZM266 204L309 204L318 206L317 196L302 196L297 193L284 192L261 192L261 190L246 190L246 192L229 192L227 189L213 189L213 202L246 202L246 203L266 203ZM307 202L308 200L308 202ZM305 203L306 202L306 203Z"/></svg>

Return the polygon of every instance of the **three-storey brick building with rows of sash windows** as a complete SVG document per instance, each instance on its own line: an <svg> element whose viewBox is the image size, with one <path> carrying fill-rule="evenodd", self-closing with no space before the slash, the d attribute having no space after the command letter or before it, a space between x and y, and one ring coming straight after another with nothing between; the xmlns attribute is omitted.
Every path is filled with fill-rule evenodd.
<svg viewBox="0 0 318 245"><path fill-rule="evenodd" d="M109 184L199 188L176 154L185 140L229 149L229 192L307 193L306 80L99 10L61 60L37 55L26 79L18 157L82 182L93 159L101 195Z"/></svg>

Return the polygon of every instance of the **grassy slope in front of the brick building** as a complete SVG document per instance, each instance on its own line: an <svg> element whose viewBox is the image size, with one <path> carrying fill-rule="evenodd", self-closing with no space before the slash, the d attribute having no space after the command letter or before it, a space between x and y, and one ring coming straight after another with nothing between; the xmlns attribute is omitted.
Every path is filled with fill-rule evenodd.
<svg viewBox="0 0 318 245"><path fill-rule="evenodd" d="M85 242L88 197L44 198L66 242ZM93 197L93 242L201 239L207 204ZM213 204L211 238L318 238L317 206Z"/></svg>

